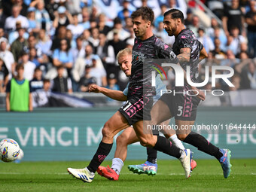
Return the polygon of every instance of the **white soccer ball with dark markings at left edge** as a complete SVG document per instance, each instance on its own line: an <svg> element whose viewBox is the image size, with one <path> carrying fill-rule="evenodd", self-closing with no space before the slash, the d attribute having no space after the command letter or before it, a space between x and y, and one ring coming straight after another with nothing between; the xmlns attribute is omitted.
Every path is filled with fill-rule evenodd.
<svg viewBox="0 0 256 192"><path fill-rule="evenodd" d="M20 146L14 139L3 139L0 142L0 159L4 162L17 160L20 154Z"/></svg>

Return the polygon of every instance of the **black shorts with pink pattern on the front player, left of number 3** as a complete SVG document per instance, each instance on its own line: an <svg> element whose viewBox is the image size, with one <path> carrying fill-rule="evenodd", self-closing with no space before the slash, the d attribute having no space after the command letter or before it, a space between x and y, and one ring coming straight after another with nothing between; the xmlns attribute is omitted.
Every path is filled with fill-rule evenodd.
<svg viewBox="0 0 256 192"><path fill-rule="evenodd" d="M139 120L151 120L152 96L133 96L118 109L130 125Z"/></svg>

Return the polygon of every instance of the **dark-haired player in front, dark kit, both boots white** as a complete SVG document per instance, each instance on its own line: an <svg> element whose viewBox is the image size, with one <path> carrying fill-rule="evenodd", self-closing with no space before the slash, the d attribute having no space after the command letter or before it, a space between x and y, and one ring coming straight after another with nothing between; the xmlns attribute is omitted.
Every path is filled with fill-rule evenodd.
<svg viewBox="0 0 256 192"><path fill-rule="evenodd" d="M130 125L133 125L141 145L178 158L184 168L186 178L190 177L190 150L181 150L171 145L169 140L162 136L145 134L143 129L143 123L151 120L153 103L151 89L143 88L148 85L147 75L142 72L143 62L145 59L168 58L170 62L178 63L178 59L172 49L153 34L151 23L154 20L154 12L151 8L139 8L133 12L132 19L136 40L133 46L133 66L127 101L103 126L102 142L89 166L84 169L68 168L69 173L82 181L93 181L96 170L111 151L114 136ZM151 72L148 75L151 75Z"/></svg>

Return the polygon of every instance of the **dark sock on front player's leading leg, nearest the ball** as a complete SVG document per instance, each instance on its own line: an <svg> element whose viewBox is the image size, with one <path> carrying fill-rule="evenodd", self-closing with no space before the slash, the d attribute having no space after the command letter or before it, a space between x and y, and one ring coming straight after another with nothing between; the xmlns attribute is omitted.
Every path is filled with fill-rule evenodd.
<svg viewBox="0 0 256 192"><path fill-rule="evenodd" d="M89 166L87 166L87 169L90 172L96 172L102 161L105 160L105 157L107 157L111 151L112 145L113 143L108 144L100 142L99 148L96 151L96 154L93 156L93 160L91 160Z"/></svg>

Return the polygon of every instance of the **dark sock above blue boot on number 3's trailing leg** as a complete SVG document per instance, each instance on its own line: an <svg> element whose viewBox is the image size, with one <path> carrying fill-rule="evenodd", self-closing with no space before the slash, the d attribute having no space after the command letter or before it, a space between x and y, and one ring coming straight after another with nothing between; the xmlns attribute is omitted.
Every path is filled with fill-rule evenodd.
<svg viewBox="0 0 256 192"><path fill-rule="evenodd" d="M203 136L198 133L191 132L190 134L188 134L183 142L193 145L194 147L198 148L198 150L203 151L206 154L212 155L218 160L223 155L220 152L219 148L217 148L215 145L212 145L212 143L208 142Z"/></svg>

